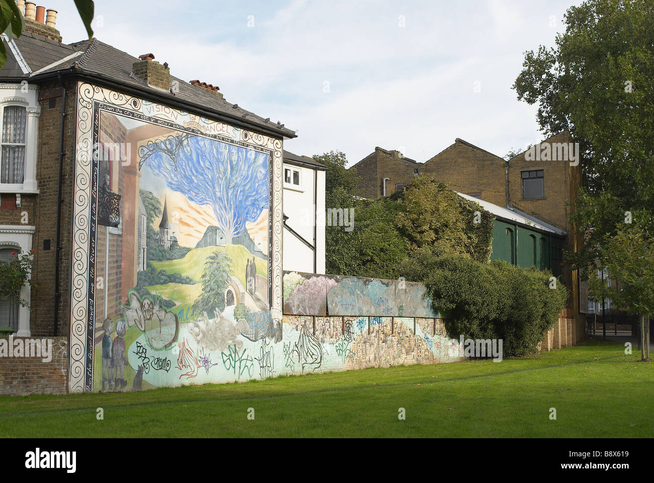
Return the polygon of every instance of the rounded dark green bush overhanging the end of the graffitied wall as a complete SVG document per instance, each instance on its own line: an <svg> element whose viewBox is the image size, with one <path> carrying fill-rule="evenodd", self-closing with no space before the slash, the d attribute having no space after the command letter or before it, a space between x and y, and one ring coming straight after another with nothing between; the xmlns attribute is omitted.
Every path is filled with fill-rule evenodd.
<svg viewBox="0 0 654 483"><path fill-rule="evenodd" d="M422 280L432 308L445 314L450 336L502 339L505 357L536 352L567 298L559 281L549 288L550 272L502 261L424 251L406 270L407 279Z"/></svg>

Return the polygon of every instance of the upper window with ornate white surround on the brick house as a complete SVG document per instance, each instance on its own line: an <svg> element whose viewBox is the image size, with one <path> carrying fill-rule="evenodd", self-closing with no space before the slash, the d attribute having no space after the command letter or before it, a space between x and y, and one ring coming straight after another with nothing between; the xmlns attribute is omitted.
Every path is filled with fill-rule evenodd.
<svg viewBox="0 0 654 483"><path fill-rule="evenodd" d="M0 83L0 192L38 193L37 86Z"/></svg>

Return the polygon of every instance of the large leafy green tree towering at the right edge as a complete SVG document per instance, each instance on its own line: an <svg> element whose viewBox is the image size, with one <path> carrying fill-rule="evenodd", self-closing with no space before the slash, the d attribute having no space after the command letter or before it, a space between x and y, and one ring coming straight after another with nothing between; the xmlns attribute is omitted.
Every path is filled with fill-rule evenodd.
<svg viewBox="0 0 654 483"><path fill-rule="evenodd" d="M654 235L654 2L588 0L566 12L555 48L526 52L518 98L538 103L544 134L568 130L581 151L583 188L571 221L583 246L577 268L613 266L622 225L637 223L650 250ZM591 272L588 270L587 273ZM647 294L642 296L647 298ZM630 310L646 304L632 300ZM641 320L643 317L641 317Z"/></svg>

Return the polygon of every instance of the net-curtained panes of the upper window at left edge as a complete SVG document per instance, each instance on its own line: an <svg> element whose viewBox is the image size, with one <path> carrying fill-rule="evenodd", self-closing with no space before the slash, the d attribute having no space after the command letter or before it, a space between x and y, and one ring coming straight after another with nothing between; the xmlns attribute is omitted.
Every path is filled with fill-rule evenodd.
<svg viewBox="0 0 654 483"><path fill-rule="evenodd" d="M2 116L0 183L23 183L25 175L27 109L5 105Z"/></svg>

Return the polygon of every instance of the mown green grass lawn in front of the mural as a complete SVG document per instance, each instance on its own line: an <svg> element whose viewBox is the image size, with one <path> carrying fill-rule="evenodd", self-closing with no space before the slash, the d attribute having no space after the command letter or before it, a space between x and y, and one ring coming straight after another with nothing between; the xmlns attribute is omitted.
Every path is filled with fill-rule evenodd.
<svg viewBox="0 0 654 483"><path fill-rule="evenodd" d="M1 397L0 437L652 437L654 370L638 359L635 349L587 342L502 363Z"/></svg>

